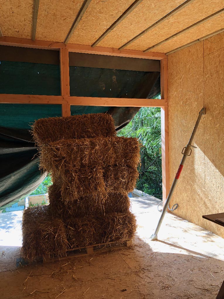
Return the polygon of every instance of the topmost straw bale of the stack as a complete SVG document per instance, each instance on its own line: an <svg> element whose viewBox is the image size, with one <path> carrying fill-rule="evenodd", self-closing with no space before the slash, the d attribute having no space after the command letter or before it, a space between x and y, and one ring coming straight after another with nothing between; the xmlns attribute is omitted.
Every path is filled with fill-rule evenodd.
<svg viewBox="0 0 224 299"><path fill-rule="evenodd" d="M40 118L32 129L39 146L61 139L116 136L113 118L105 113Z"/></svg>

